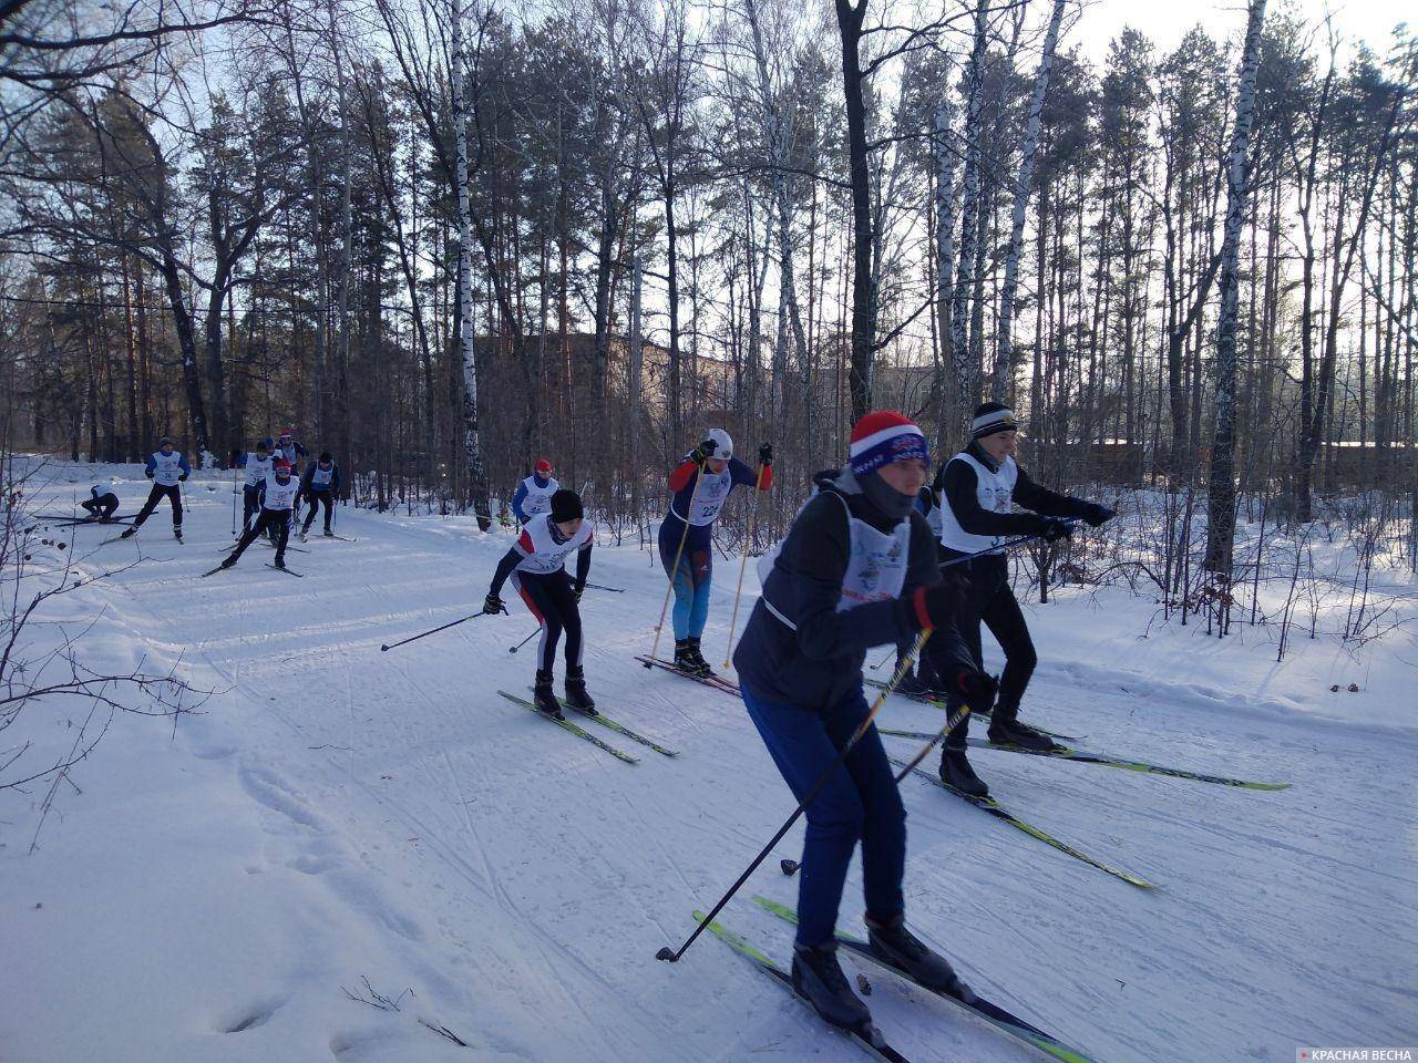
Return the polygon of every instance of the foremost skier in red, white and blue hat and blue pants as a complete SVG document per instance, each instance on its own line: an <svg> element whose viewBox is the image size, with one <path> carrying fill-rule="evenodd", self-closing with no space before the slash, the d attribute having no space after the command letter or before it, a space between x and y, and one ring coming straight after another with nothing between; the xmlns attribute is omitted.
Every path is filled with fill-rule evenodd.
<svg viewBox="0 0 1418 1063"><path fill-rule="evenodd" d="M798 801L871 712L866 649L932 628L940 668L971 704L994 685L953 625L959 592L942 583L936 544L913 500L926 479L926 437L895 411L852 428L849 463L803 507L776 556L760 564L763 595L733 656L749 717ZM905 926L906 811L875 726L807 806L793 988L828 1022L871 1020L837 962L834 937L847 867L862 843L872 950L926 985L967 994L950 964Z"/></svg>

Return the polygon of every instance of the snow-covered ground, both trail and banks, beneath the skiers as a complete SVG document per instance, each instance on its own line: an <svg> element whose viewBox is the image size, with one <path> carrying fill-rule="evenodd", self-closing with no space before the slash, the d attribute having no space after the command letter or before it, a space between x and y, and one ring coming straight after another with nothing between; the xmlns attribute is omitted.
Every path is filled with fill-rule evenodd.
<svg viewBox="0 0 1418 1063"><path fill-rule="evenodd" d="M95 475L118 480L123 512L146 490L136 466L52 472L50 510ZM476 611L505 532L346 509L339 532L359 541L312 539L289 556L303 580L264 567L261 546L199 580L231 539L230 479L197 476L189 497L182 546L166 510L96 553L106 532L72 536L88 573L145 558L57 605L71 628L99 617L84 652L116 668L180 658L220 693L176 729L118 717L75 785L55 791L33 855L47 787L0 791L0 1059L858 1056L708 935L675 967L655 961L793 802L742 704L634 662L664 590L651 554L598 546L591 578L625 592L583 604L603 709L681 751L598 730L640 755L628 765L498 696L530 680L529 652L508 653L533 626L519 605L379 651ZM715 590L713 660L735 568L722 564ZM1139 638L1150 614L1120 591L1031 608L1042 665L1027 716L1086 736L1088 750L1293 788L981 751L1011 811L1159 889L909 781L913 927L977 989L1110 1063L1418 1045L1412 634L1354 653L1300 639L1276 665L1254 634ZM27 738L38 751L71 741L84 712L28 707L0 763ZM882 720L934 730L940 714L893 700ZM723 914L783 960L790 928L749 897L795 900L777 857L800 839L798 826ZM844 926L859 914L854 866ZM912 1060L1037 1057L862 969L878 1023ZM372 992L398 1011L350 999Z"/></svg>

